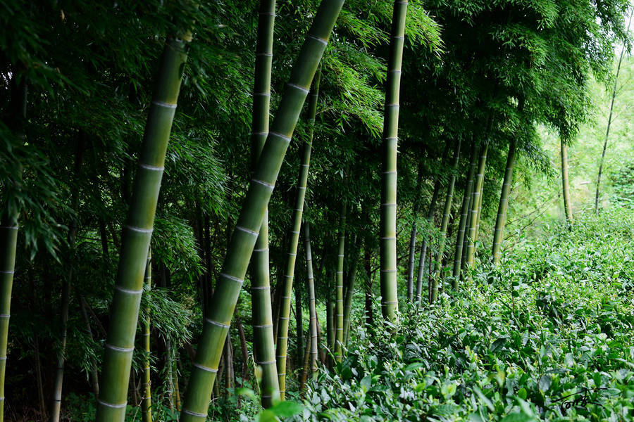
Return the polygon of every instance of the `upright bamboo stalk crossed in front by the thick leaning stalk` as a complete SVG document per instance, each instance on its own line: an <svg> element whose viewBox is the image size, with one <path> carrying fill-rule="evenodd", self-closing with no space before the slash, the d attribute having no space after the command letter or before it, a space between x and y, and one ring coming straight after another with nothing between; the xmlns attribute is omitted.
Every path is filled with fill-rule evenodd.
<svg viewBox="0 0 634 422"><path fill-rule="evenodd" d="M273 61L273 26L275 0L262 0L258 20L253 121L251 123L252 166L255 170L268 135L268 113L271 103L271 63ZM251 257L251 307L253 312L254 357L262 369L261 400L271 407L273 397L280 394L278 369L275 362L271 280L268 268L268 210Z"/></svg>

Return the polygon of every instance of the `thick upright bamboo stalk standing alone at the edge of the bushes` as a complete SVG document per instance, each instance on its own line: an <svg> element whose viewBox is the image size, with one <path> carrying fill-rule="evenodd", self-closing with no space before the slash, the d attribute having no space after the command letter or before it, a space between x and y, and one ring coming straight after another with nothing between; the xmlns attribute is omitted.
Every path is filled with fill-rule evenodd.
<svg viewBox="0 0 634 422"><path fill-rule="evenodd" d="M399 141L399 91L405 41L407 0L394 1L390 58L387 60L385 115L383 119L383 177L381 183L380 267L381 312L394 321L399 309L397 286L397 146Z"/></svg>

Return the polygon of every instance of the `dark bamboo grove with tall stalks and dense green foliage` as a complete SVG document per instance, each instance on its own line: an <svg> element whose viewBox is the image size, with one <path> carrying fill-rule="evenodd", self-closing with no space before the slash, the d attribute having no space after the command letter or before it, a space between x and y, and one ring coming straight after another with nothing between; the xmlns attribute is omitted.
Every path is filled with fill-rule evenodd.
<svg viewBox="0 0 634 422"><path fill-rule="evenodd" d="M296 399L352 324L499 264L514 177L559 172L545 132L573 224L628 6L2 3L4 414Z"/></svg>

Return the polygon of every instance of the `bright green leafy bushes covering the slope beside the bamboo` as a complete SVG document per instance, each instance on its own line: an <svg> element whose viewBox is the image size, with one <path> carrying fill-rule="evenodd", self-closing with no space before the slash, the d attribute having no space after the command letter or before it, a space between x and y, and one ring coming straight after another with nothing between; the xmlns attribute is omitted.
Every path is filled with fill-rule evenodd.
<svg viewBox="0 0 634 422"><path fill-rule="evenodd" d="M360 328L294 420L634 420L633 227L626 210L581 217L397 326Z"/></svg>

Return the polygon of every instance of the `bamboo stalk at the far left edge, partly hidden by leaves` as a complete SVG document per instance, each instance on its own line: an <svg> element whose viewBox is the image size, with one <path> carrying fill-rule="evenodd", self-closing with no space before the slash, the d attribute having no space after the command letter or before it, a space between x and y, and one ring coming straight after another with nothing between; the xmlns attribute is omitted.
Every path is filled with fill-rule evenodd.
<svg viewBox="0 0 634 422"><path fill-rule="evenodd" d="M20 84L11 81L11 129L24 139L24 124L27 108L26 80ZM22 180L22 169L18 170L18 182ZM15 272L15 249L18 243L18 210L5 207L0 217L0 422L4 421L4 375L6 371L6 345L8 343L9 316L11 315L11 290Z"/></svg>

